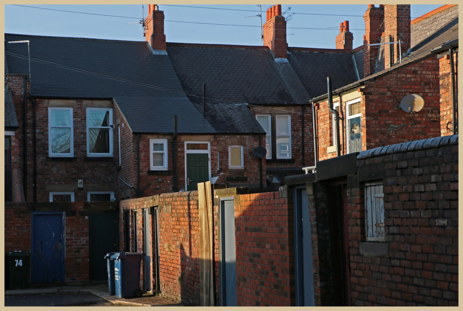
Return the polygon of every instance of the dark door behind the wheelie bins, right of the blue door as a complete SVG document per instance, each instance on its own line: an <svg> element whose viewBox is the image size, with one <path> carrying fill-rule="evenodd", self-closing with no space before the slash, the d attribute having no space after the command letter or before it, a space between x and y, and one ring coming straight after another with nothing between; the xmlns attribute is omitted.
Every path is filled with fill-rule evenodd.
<svg viewBox="0 0 463 311"><path fill-rule="evenodd" d="M119 214L91 213L88 218L90 281L108 277L105 255L119 250Z"/></svg>

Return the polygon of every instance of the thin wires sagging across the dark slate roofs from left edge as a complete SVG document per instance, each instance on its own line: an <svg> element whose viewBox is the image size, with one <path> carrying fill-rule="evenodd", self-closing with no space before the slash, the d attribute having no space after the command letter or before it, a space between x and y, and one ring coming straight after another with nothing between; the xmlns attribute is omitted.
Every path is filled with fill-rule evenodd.
<svg viewBox="0 0 463 311"><path fill-rule="evenodd" d="M25 55L22 55L22 54L13 53L13 52L9 52L9 51L5 51L5 53L8 54L8 55L14 56L14 57L18 57L18 58L22 58L22 59L28 59L28 57L26 57ZM78 68L78 67L73 67L73 66L68 66L68 65L64 65L64 64L55 63L53 61L42 60L42 59L39 59L37 57L31 57L31 61L35 61L35 62L38 62L38 63L43 63L43 64L46 64L46 65L59 67L59 68L63 68L63 69L68 69L68 70L76 71L76 72L80 72L80 73L86 73L86 74L94 75L94 76L97 76L97 77L100 77L100 78L106 78L106 79L111 79L111 80L115 80L115 81L119 81L119 82L125 82L125 83L140 85L140 86L146 86L146 87L153 88L153 89L158 89L158 90L161 90L161 91L175 92L175 93L178 93L178 94L183 94L183 95L189 95L189 96L192 96L192 97L202 98L202 95L196 95L194 93L189 93L189 92L185 92L185 91L179 91L179 90L175 90L175 89L171 89L171 88L167 88L167 87L163 87L163 86L158 86L158 85L151 85L151 84L148 84L148 83L134 81L134 80L131 80L131 79L119 78L119 77L112 76L112 75L105 74L105 73L98 73L98 72L90 71L90 70L87 70L87 69L82 69L82 68ZM232 103L232 104L245 104L245 105L252 106L252 107L261 107L261 108L268 108L268 109L276 110L276 111L288 112L287 110L269 108L268 106L260 106L260 105L255 105L255 104L241 103L241 102L238 102L238 101L232 101L232 100L228 100L228 99L220 99L220 98L212 98L212 97L206 97L206 99L216 100L216 101L220 101L220 102L228 102L228 103ZM304 115L304 116L312 116L312 115L307 114L307 113L300 113L300 112L294 112L294 113L299 114L299 115Z"/></svg>

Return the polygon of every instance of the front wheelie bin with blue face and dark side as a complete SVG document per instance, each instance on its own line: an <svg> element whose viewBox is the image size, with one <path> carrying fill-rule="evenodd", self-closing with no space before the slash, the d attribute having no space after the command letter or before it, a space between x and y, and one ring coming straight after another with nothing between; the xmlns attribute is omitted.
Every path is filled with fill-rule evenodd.
<svg viewBox="0 0 463 311"><path fill-rule="evenodd" d="M134 298L143 295L140 289L140 262L145 254L117 252L114 260L116 298Z"/></svg>

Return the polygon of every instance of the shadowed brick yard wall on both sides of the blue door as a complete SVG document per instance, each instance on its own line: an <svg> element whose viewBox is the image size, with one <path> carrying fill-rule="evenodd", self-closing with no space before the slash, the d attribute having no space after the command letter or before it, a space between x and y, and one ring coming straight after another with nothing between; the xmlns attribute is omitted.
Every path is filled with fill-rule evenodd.
<svg viewBox="0 0 463 311"><path fill-rule="evenodd" d="M65 215L65 282L89 281L88 219L79 216L83 202L70 202L75 216ZM5 202L5 251L31 251L31 212L25 202ZM30 274L28 275L28 282Z"/></svg>

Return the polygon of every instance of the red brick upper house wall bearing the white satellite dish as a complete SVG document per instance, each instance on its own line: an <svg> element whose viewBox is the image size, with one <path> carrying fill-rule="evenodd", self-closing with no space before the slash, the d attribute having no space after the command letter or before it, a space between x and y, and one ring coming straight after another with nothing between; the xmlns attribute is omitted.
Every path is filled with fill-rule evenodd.
<svg viewBox="0 0 463 311"><path fill-rule="evenodd" d="M438 60L430 57L418 63L392 71L387 75L368 83L361 91L362 150L401 142L440 136L439 129L439 89L434 86L434 74L438 74ZM399 107L401 98L409 94L418 94L424 98L425 106L416 114L409 114ZM397 99L396 99L397 98ZM333 102L338 101L333 98ZM341 116L346 117L345 103L341 103ZM412 124L416 126L388 135L391 125ZM341 155L345 154L346 120L340 121ZM336 156L328 153L326 147L332 146L332 115L328 111L328 102L319 103L317 110L319 160ZM379 136L379 139L378 139Z"/></svg>

